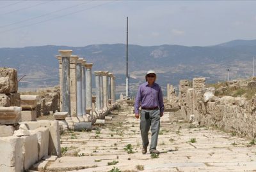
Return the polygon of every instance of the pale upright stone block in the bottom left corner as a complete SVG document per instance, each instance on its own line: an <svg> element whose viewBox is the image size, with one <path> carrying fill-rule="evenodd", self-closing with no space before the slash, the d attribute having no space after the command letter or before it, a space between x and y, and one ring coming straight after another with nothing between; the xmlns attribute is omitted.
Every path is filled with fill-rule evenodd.
<svg viewBox="0 0 256 172"><path fill-rule="evenodd" d="M0 137L0 171L23 171L22 139Z"/></svg>

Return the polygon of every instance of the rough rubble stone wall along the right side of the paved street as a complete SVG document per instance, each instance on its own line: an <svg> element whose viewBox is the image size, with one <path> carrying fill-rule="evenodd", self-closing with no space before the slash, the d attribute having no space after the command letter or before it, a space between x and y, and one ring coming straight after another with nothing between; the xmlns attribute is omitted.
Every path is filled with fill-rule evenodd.
<svg viewBox="0 0 256 172"><path fill-rule="evenodd" d="M180 112L185 120L195 125L220 127L249 138L256 137L256 96L250 100L243 96L216 97L214 87L205 87L204 78L194 78L191 87L184 84L188 81L181 83L185 89L179 94ZM237 83L241 82L230 82L227 87L238 87ZM248 83L253 87L253 82Z"/></svg>

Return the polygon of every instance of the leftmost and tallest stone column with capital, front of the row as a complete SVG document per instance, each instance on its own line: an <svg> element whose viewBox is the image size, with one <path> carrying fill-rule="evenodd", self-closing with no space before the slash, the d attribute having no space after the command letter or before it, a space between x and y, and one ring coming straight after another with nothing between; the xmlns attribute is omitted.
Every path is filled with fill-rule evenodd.
<svg viewBox="0 0 256 172"><path fill-rule="evenodd" d="M62 111L68 112L71 117L70 107L70 59L72 50L59 50L61 54L61 92L62 92Z"/></svg>

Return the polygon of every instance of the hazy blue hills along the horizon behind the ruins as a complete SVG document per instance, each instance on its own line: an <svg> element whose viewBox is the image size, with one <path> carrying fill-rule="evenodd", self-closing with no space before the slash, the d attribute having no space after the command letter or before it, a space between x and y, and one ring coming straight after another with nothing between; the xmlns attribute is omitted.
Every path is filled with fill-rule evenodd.
<svg viewBox="0 0 256 172"><path fill-rule="evenodd" d="M47 87L58 84L60 49L71 49L74 55L93 62L93 71L109 70L116 74L118 85L125 83L125 45L88 45L66 47L46 45L40 47L0 48L1 66L17 68L19 76L26 75L20 87ZM144 82L148 69L159 73L158 81L177 85L180 79L204 76L209 82L225 80L227 68L231 78L252 75L252 56L256 55L256 40L234 40L211 47L159 45L143 47L129 45L129 72L134 89ZM122 87L120 86L120 90Z"/></svg>

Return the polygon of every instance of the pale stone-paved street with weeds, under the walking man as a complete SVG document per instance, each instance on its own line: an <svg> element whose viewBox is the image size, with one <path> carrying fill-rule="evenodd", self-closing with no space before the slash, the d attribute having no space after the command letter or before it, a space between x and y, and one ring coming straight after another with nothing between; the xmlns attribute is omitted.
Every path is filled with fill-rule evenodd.
<svg viewBox="0 0 256 172"><path fill-rule="evenodd" d="M47 164L46 170L256 171L254 141L195 127L183 122L179 112L166 112L161 118L159 157L143 155L140 120L134 118L132 110L122 106L111 113L113 120L94 126L91 132L61 134L63 157Z"/></svg>

